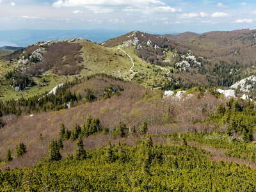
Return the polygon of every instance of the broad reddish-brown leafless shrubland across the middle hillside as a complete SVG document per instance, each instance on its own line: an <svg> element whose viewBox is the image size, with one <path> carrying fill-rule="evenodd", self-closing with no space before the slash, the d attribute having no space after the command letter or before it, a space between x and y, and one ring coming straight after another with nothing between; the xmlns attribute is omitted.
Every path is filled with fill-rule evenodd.
<svg viewBox="0 0 256 192"><path fill-rule="evenodd" d="M97 100L93 103L83 103L70 109L38 113L33 117L29 115L20 116L10 121L8 125L0 129L0 157L3 160L8 148L15 152L15 146L24 142L28 148L28 153L19 159L4 166L21 167L32 166L40 161L47 154L49 142L53 138L58 138L60 124L63 123L68 129L73 129L75 124L83 124L88 115L93 118L100 118L102 127L113 128L124 122L132 130L136 128L136 133L140 134L140 127L143 122L148 122L148 132L152 134L163 134L173 132L195 132L212 131L212 125L197 123L205 120L210 113L214 112L216 105L221 100L212 95L206 94L200 99L195 96L187 99L177 100L173 98L162 98L161 92L151 92L138 84L116 81L107 77L95 77L72 88L72 92L81 92L84 89L93 88L97 95L105 87L119 86L124 88L121 95L111 99ZM40 137L42 134L42 137ZM112 138L111 134L96 134L84 138L84 146L94 149L108 144L126 142L135 145L140 140L134 134L126 139ZM63 157L74 153L75 143L64 142L65 148L61 152Z"/></svg>

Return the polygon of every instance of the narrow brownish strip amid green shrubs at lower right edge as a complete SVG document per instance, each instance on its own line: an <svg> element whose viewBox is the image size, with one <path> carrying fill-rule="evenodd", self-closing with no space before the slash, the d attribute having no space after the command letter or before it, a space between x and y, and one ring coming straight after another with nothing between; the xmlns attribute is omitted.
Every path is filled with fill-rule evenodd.
<svg viewBox="0 0 256 192"><path fill-rule="evenodd" d="M209 145L202 145L198 142L188 142L189 145L193 145L196 148L201 148L204 150L207 150L208 152L211 152L212 156L210 157L213 161L224 161L224 162L232 162L232 163L237 163L237 164L244 164L246 166L250 166L251 168L256 168L256 163L244 160L244 159L239 159L236 157L228 157L226 156L226 151L224 149L220 148L215 148L211 147Z"/></svg>

